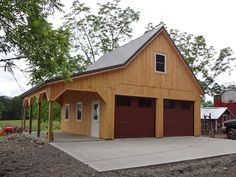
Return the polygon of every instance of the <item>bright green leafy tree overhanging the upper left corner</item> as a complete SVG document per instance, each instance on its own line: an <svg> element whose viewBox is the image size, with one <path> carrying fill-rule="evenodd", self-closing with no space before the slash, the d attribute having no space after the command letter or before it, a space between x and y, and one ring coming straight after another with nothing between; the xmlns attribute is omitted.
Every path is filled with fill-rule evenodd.
<svg viewBox="0 0 236 177"><path fill-rule="evenodd" d="M59 0L1 0L0 67L13 73L16 60L27 61L32 84L55 75L68 78L69 32L47 21L61 7Z"/></svg>

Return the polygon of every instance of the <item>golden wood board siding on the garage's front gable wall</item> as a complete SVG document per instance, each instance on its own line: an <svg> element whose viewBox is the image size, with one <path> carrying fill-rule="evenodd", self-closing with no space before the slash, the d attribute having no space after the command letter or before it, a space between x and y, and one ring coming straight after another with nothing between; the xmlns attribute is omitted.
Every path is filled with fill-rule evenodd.
<svg viewBox="0 0 236 177"><path fill-rule="evenodd" d="M166 55L165 74L155 71L156 53ZM194 135L199 136L201 132L200 95L203 94L202 90L164 31L138 53L126 67L78 76L70 83L57 81L45 87L50 90L48 95L51 100L57 99L65 90L96 92L103 100L100 138L114 138L115 95L156 98L156 137L163 137L163 99L193 101ZM65 100L70 102L70 97L65 96L63 103ZM64 121L62 124L62 129L70 128L74 132L78 130L78 127L69 124L66 127Z"/></svg>

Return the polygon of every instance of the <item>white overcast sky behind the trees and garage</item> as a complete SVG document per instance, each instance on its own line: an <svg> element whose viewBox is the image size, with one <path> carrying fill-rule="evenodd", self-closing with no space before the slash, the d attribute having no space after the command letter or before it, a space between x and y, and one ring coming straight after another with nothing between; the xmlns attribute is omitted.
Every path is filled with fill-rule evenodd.
<svg viewBox="0 0 236 177"><path fill-rule="evenodd" d="M96 9L95 2L105 0L86 0L86 4ZM70 10L71 0L62 0L64 10ZM145 26L152 22L163 21L168 28L178 29L194 35L203 35L208 45L217 51L231 47L236 53L235 0L123 0L123 7L130 6L140 11L140 20L134 24L133 38L143 34ZM62 24L63 14L56 13L50 21L57 27ZM235 56L235 55L234 55ZM21 64L20 65L24 65ZM10 73L0 70L0 95L16 96L30 88L27 79L21 72L15 71L15 78ZM236 68L229 76L224 74L217 78L219 83L236 81Z"/></svg>

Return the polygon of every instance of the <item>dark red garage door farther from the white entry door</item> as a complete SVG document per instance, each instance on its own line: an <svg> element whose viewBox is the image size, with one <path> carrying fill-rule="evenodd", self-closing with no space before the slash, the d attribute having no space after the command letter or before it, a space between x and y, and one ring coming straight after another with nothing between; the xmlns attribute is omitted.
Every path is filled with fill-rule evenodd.
<svg viewBox="0 0 236 177"><path fill-rule="evenodd" d="M164 100L164 136L193 136L192 101Z"/></svg>

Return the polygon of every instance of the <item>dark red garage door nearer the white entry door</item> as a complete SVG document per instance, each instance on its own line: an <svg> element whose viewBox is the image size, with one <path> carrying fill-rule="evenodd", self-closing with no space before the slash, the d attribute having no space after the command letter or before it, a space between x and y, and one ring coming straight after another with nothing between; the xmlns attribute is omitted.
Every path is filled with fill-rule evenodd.
<svg viewBox="0 0 236 177"><path fill-rule="evenodd" d="M155 99L116 96L115 138L155 136Z"/></svg>

